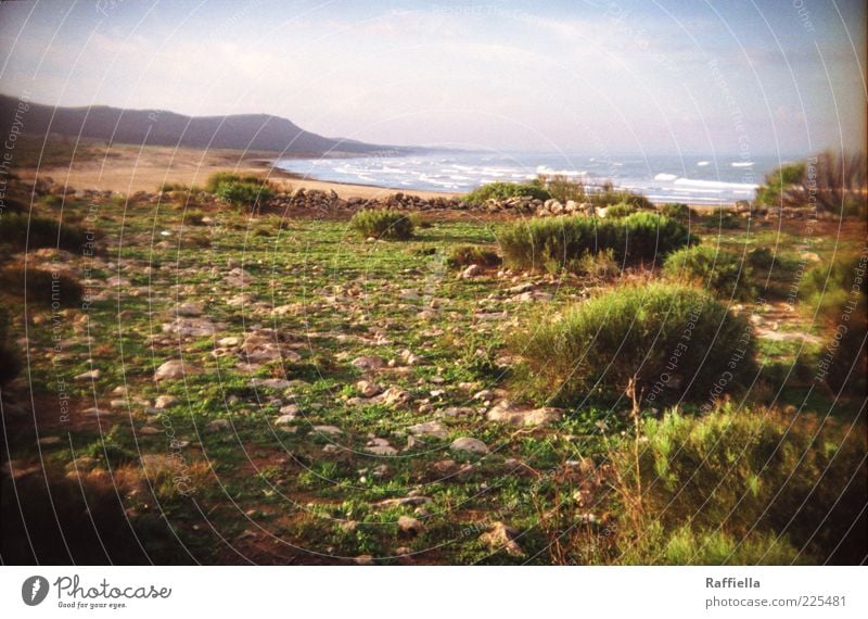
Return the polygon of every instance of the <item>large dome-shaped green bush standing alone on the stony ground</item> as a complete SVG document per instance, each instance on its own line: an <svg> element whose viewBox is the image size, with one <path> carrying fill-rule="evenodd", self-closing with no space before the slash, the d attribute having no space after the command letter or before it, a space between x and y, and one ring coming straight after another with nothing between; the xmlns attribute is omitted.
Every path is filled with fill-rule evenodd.
<svg viewBox="0 0 868 619"><path fill-rule="evenodd" d="M610 289L542 316L511 348L532 395L567 405L617 396L634 378L648 401L709 403L756 371L748 321L702 290L668 283Z"/></svg>

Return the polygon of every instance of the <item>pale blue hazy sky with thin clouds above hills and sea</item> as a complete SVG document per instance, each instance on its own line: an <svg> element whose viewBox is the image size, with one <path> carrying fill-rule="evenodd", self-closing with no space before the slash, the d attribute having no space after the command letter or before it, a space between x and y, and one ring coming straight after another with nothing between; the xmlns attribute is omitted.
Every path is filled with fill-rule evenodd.
<svg viewBox="0 0 868 619"><path fill-rule="evenodd" d="M864 149L863 0L17 1L0 91L382 144Z"/></svg>

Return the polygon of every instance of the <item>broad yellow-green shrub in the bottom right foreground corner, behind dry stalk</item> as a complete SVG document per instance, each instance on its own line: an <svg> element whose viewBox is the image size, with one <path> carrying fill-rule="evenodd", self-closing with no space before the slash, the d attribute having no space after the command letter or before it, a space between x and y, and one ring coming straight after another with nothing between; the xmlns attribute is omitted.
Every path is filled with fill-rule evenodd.
<svg viewBox="0 0 868 619"><path fill-rule="evenodd" d="M671 540L689 526L737 540L787 535L817 561L865 557L864 425L725 408L701 418L669 412L647 419L642 433L638 479L631 441L614 456L623 491L640 482L637 522L658 522Z"/></svg>

